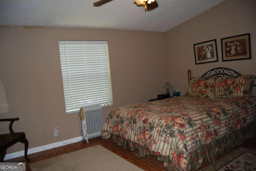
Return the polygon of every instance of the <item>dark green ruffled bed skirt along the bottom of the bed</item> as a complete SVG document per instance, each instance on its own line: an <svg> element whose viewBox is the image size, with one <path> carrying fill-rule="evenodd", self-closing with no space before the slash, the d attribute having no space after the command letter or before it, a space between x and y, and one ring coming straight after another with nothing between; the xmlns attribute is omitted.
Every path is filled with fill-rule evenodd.
<svg viewBox="0 0 256 171"><path fill-rule="evenodd" d="M229 151L230 148L235 145L243 144L245 139L251 139L255 137L256 123L250 123L241 129L232 131L231 133L220 137L219 139L213 140L211 143L199 147L195 151L190 152L189 158L186 159L188 163L185 168L180 167L177 164L176 157L172 156L164 157L155 154L150 151L147 147L143 147L138 143L128 141L119 135L110 135L110 140L116 142L118 145L124 148L129 147L132 151L138 150L138 157L145 157L146 155L155 155L158 161L164 161L164 167L168 171L187 170L193 171L198 169L203 162L212 163L216 160L216 155L224 154L225 150ZM175 156L175 155L174 155ZM180 162L181 164L181 162Z"/></svg>

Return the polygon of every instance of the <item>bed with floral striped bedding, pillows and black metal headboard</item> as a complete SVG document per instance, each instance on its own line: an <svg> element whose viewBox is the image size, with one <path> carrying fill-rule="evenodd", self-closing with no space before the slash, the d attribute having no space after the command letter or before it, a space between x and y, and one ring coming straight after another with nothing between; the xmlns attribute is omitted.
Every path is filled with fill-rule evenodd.
<svg viewBox="0 0 256 171"><path fill-rule="evenodd" d="M245 139L255 137L255 76L214 68L202 77L188 70L186 94L113 109L102 137L155 155L166 170L198 169Z"/></svg>

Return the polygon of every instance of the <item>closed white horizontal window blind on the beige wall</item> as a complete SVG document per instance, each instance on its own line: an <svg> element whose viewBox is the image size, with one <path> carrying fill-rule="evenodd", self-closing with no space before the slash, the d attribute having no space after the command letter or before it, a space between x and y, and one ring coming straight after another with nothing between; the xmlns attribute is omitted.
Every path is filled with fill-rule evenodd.
<svg viewBox="0 0 256 171"><path fill-rule="evenodd" d="M106 41L59 41L66 113L112 105Z"/></svg>

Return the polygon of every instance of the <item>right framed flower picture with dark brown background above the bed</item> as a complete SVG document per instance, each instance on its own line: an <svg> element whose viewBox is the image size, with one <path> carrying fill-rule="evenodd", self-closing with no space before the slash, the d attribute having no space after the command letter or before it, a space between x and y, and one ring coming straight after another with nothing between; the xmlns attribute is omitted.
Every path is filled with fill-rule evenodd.
<svg viewBox="0 0 256 171"><path fill-rule="evenodd" d="M252 59L250 33L221 39L222 61Z"/></svg>

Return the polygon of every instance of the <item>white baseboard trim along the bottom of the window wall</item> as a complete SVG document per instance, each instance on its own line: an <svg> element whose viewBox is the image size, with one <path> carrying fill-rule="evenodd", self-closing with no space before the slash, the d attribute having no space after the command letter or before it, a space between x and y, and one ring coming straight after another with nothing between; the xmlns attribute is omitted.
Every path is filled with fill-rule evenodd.
<svg viewBox="0 0 256 171"><path fill-rule="evenodd" d="M42 145L40 147L34 147L34 148L31 148L31 149L28 149L28 154L37 153L37 152L40 152L40 151L60 147L60 146L63 146L63 145L67 145L67 143L76 143L76 142L81 141L81 140L82 140L82 136L75 137L75 138L72 138L72 139L67 139L67 140L64 140L64 141L59 141L59 142L56 142L56 143ZM14 153L10 153L10 154L6 154L6 156L4 157L4 160L14 159L14 158L20 157L20 156L24 156L24 150L17 151L17 152L14 152Z"/></svg>

